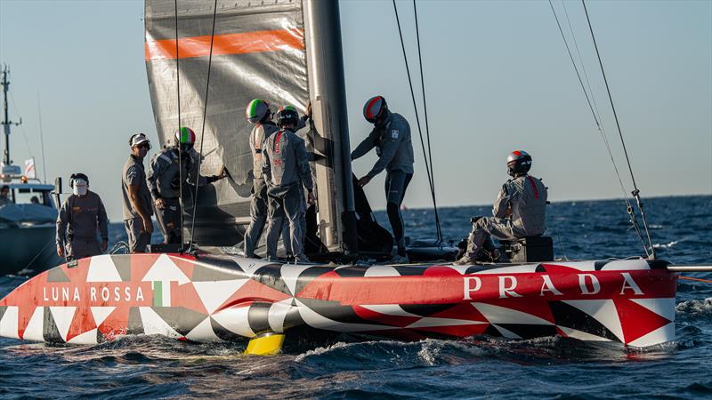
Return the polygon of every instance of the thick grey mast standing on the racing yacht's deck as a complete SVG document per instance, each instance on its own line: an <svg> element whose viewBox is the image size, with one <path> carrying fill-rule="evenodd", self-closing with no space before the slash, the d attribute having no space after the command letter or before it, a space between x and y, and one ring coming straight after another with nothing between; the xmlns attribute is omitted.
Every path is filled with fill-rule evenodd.
<svg viewBox="0 0 712 400"><path fill-rule="evenodd" d="M330 252L350 254L358 249L339 5L304 0L303 15L313 119L331 164L316 164L320 236Z"/></svg>

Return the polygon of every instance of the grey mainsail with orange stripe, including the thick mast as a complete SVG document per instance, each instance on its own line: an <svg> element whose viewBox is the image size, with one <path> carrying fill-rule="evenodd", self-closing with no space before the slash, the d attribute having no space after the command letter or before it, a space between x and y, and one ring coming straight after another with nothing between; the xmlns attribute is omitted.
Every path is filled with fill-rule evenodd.
<svg viewBox="0 0 712 400"><path fill-rule="evenodd" d="M201 172L216 173L224 165L231 175L199 189L193 240L203 245L242 240L253 180L247 103L262 98L273 111L283 104L304 110L312 100L320 238L329 252L348 252L355 217L338 4L231 0L218 1L215 9L204 0L147 0L145 24L159 138L171 140L180 118L197 133L196 148L204 140ZM190 236L191 196L183 196L183 203L184 234Z"/></svg>

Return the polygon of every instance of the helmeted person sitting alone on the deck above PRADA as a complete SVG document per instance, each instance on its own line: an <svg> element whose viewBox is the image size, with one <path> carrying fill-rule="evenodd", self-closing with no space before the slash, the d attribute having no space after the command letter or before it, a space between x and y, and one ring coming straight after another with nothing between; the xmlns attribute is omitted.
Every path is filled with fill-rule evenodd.
<svg viewBox="0 0 712 400"><path fill-rule="evenodd" d="M546 230L546 186L528 174L531 156L516 150L506 157L507 173L512 177L499 190L492 209L493 217L473 218L473 231L467 240L467 251L457 264L473 264L481 260L483 244L494 236L500 240L516 240L526 236L541 236ZM484 259L492 259L487 255Z"/></svg>

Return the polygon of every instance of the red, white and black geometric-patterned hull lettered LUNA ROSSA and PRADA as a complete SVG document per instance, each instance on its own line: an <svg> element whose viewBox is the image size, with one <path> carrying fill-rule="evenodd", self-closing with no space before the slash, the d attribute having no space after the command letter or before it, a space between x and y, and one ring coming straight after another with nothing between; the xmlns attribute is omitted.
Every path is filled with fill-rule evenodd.
<svg viewBox="0 0 712 400"><path fill-rule="evenodd" d="M644 347L675 339L677 275L666 265L335 267L101 255L48 270L0 300L0 336L79 344L126 334L214 341L306 327L402 340L562 335Z"/></svg>

